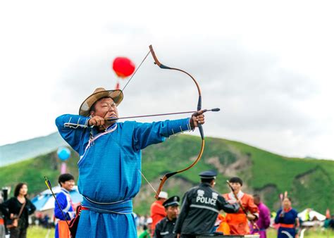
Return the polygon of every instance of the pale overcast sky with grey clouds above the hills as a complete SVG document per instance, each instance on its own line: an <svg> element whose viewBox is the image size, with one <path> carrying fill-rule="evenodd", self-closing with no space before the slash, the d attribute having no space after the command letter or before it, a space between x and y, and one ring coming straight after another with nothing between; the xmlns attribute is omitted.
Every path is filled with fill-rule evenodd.
<svg viewBox="0 0 334 238"><path fill-rule="evenodd" d="M333 6L2 1L0 145L55 132L57 115L78 113L96 87L115 87L113 58L139 65L153 44L162 63L198 80L203 108L222 109L206 113L206 136L285 156L334 159ZM190 78L160 70L151 56L124 94L122 116L189 111L197 104Z"/></svg>

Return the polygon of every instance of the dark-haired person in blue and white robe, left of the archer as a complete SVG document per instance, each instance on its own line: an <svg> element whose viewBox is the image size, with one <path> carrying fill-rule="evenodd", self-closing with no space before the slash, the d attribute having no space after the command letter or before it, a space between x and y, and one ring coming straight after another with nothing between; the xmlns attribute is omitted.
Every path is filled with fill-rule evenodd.
<svg viewBox="0 0 334 238"><path fill-rule="evenodd" d="M61 209L57 202L54 201L54 216L56 217L54 237L70 238L70 230L68 230L66 220L69 221L75 218L73 202L72 199L70 199L70 191L72 191L74 186L74 177L69 173L64 173L58 177L58 183L61 185L61 192L57 194L56 199L61 206Z"/></svg>

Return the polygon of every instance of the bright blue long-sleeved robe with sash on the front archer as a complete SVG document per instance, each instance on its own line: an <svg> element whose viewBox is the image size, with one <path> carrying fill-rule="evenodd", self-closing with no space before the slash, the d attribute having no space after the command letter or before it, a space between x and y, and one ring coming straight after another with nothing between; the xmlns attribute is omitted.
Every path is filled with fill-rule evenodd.
<svg viewBox="0 0 334 238"><path fill-rule="evenodd" d="M56 125L61 137L78 152L78 188L84 196L76 237L137 237L132 198L141 184L141 150L166 137L191 130L190 119L156 123L126 121L105 132L95 127L65 127L64 123L87 125L89 118L61 115Z"/></svg>

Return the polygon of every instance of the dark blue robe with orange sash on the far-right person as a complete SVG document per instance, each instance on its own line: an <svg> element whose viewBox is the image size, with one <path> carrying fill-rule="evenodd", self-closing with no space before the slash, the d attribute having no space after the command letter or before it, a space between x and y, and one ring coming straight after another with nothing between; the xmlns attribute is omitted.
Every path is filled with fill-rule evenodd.
<svg viewBox="0 0 334 238"><path fill-rule="evenodd" d="M277 215L275 218L275 223L280 224L278 228L278 238L291 238L296 235L295 223L296 218L298 217L298 213L295 209L290 209L290 211L286 211L283 217L280 217L280 213L282 213L282 208L277 211Z"/></svg>

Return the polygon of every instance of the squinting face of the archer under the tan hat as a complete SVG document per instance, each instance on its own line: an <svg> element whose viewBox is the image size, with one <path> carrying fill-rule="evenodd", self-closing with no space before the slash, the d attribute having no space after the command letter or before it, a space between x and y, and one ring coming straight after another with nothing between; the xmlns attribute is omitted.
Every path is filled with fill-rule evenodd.
<svg viewBox="0 0 334 238"><path fill-rule="evenodd" d="M118 118L117 106L110 97L97 101L95 110L90 113L92 116L99 115L101 118Z"/></svg>

